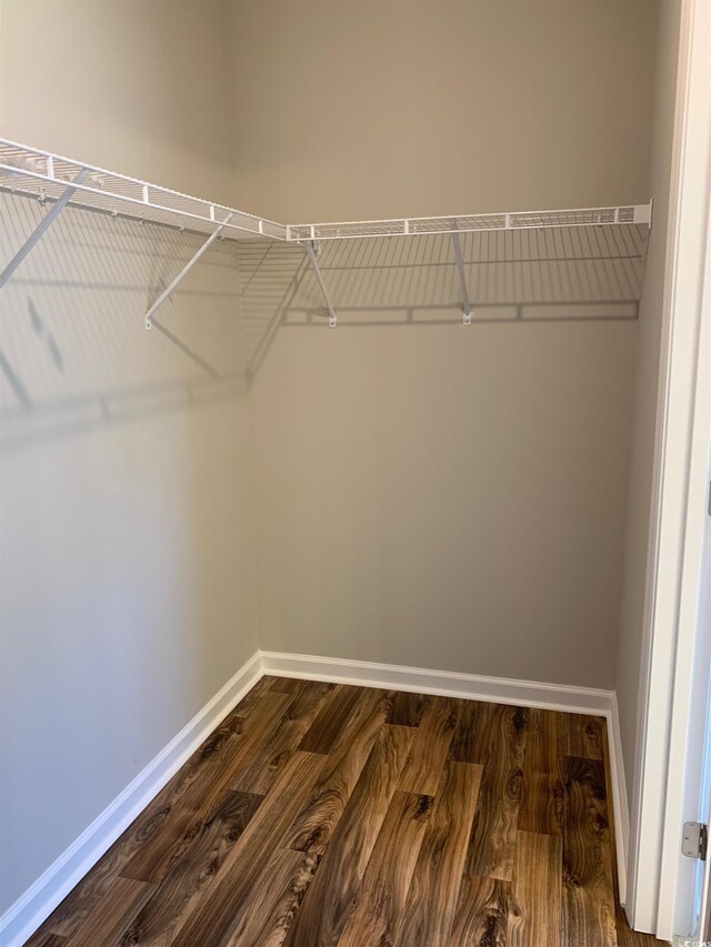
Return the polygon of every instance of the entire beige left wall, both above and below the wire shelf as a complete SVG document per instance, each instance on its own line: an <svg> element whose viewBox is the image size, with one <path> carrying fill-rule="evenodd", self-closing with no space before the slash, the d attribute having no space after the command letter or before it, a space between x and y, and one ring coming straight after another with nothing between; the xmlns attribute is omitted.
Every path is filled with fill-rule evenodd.
<svg viewBox="0 0 711 947"><path fill-rule="evenodd" d="M0 133L227 197L220 4L1 9ZM200 241L69 210L2 291L0 910L258 647L233 246L142 328Z"/></svg>

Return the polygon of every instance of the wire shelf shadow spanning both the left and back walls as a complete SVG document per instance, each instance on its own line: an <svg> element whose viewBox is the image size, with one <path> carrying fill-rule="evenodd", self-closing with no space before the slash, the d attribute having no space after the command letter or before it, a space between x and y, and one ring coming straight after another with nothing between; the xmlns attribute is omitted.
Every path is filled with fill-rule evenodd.
<svg viewBox="0 0 711 947"><path fill-rule="evenodd" d="M7 261L46 211L0 200ZM647 235L634 225L461 234L474 325L637 319ZM146 310L203 240L64 210L2 290L4 447L240 397L279 328L326 330L303 248L226 240L146 332ZM449 234L324 242L319 265L339 328L462 322Z"/></svg>

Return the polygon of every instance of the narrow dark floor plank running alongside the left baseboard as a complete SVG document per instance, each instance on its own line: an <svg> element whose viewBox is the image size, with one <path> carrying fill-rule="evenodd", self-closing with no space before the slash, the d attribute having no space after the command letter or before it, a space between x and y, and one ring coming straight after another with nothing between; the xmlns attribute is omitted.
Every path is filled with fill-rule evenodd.
<svg viewBox="0 0 711 947"><path fill-rule="evenodd" d="M99 859L89 875L56 908L42 929L69 937L113 884L119 872L159 832L178 800L191 786L201 784L203 773L214 772L241 739L244 721L230 716L208 737L167 786L149 803L120 838Z"/></svg>

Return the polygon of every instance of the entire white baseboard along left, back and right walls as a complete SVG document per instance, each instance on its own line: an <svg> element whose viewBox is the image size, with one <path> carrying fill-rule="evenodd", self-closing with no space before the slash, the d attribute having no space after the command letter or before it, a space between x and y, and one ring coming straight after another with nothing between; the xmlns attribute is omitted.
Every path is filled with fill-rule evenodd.
<svg viewBox="0 0 711 947"><path fill-rule="evenodd" d="M494 701L605 717L610 746L610 777L617 836L620 899L624 904L629 817L622 766L618 704L613 691L541 684L503 677L484 677L451 671L431 671L317 657L304 654L256 652L180 733L138 774L123 792L88 826L28 890L0 917L0 944L20 947L57 905L81 880L170 777L200 746L263 674L332 681L412 691L420 694Z"/></svg>

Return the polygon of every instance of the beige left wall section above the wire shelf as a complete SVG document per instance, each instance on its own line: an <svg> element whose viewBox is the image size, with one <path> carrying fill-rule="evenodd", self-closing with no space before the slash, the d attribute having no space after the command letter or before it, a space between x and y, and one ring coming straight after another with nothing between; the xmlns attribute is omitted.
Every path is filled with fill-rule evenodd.
<svg viewBox="0 0 711 947"><path fill-rule="evenodd" d="M0 0L0 134L229 202L229 4Z"/></svg>

